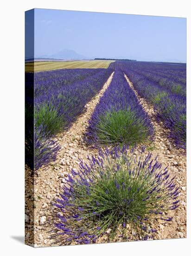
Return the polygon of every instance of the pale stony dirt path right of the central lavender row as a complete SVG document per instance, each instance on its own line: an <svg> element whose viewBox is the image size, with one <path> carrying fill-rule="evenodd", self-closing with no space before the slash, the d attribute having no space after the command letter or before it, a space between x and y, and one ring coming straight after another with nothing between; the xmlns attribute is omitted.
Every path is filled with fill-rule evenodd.
<svg viewBox="0 0 191 256"><path fill-rule="evenodd" d="M140 97L134 89L133 83L129 80L126 74L125 78L134 91L138 101L149 115L153 126L155 128L156 139L151 144L151 147L147 148L154 157L158 155L158 161L167 165L171 171L172 176L176 175L176 183L181 188L179 196L180 206L178 209L172 211L173 219L168 224L156 223L158 230L155 238L183 238L186 237L186 155L184 149L176 148L174 142L168 138L169 130L166 129L162 122L156 121L156 113L153 105L149 104L144 98Z"/></svg>

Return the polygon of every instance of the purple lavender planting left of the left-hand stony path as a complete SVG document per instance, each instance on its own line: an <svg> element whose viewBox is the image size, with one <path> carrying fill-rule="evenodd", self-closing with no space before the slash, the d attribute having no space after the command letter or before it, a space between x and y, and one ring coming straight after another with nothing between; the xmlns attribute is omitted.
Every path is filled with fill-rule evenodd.
<svg viewBox="0 0 191 256"><path fill-rule="evenodd" d="M39 72L35 74L34 89L27 82L32 74L26 74L26 90L31 91L32 98L27 115L32 115L30 109L34 108L34 137L29 134L26 142L30 168L37 170L56 159L59 145L54 136L69 128L83 113L87 102L101 90L111 73L112 69Z"/></svg>

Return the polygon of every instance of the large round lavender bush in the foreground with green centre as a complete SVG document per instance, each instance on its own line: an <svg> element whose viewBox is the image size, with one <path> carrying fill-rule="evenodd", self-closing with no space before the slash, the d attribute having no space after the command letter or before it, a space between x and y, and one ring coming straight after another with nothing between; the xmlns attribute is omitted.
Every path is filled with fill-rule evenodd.
<svg viewBox="0 0 191 256"><path fill-rule="evenodd" d="M55 204L60 244L95 243L103 234L108 242L152 239L155 219L172 220L164 212L178 208L175 177L150 153L133 153L125 146L100 149L71 171Z"/></svg>

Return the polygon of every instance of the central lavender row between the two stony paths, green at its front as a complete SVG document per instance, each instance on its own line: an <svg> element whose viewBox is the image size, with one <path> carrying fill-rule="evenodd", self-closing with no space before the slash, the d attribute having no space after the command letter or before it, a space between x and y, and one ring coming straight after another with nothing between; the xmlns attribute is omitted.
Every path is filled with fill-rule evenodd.
<svg viewBox="0 0 191 256"><path fill-rule="evenodd" d="M87 141L93 144L134 145L153 139L153 126L124 74L116 70L89 121Z"/></svg>

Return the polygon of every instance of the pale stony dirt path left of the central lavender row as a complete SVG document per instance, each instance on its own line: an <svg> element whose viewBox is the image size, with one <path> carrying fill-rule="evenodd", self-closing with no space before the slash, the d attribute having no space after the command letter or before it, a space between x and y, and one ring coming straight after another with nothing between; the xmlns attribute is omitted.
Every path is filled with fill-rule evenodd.
<svg viewBox="0 0 191 256"><path fill-rule="evenodd" d="M34 241L32 241L32 225L26 232L27 243L34 243L35 247L51 246L53 241L50 239L50 231L53 228L52 211L55 213L52 203L62 191L64 176L70 172L72 168L77 168L79 159L87 159L87 156L96 155L96 149L87 148L83 141L83 135L88 127L89 119L96 108L97 103L103 93L108 88L114 72L103 85L102 90L85 106L85 112L78 117L68 131L58 134L56 139L61 146L61 150L57 155L57 161L49 164L47 169L39 169L39 176L34 178ZM32 188L29 184L26 186ZM27 194L32 194L33 189ZM31 198L32 202L32 198ZM30 215L30 213L29 213ZM32 216L26 216L30 222ZM32 223L31 223L32 224ZM31 227L31 228L30 228ZM31 239L31 240L30 240Z"/></svg>

